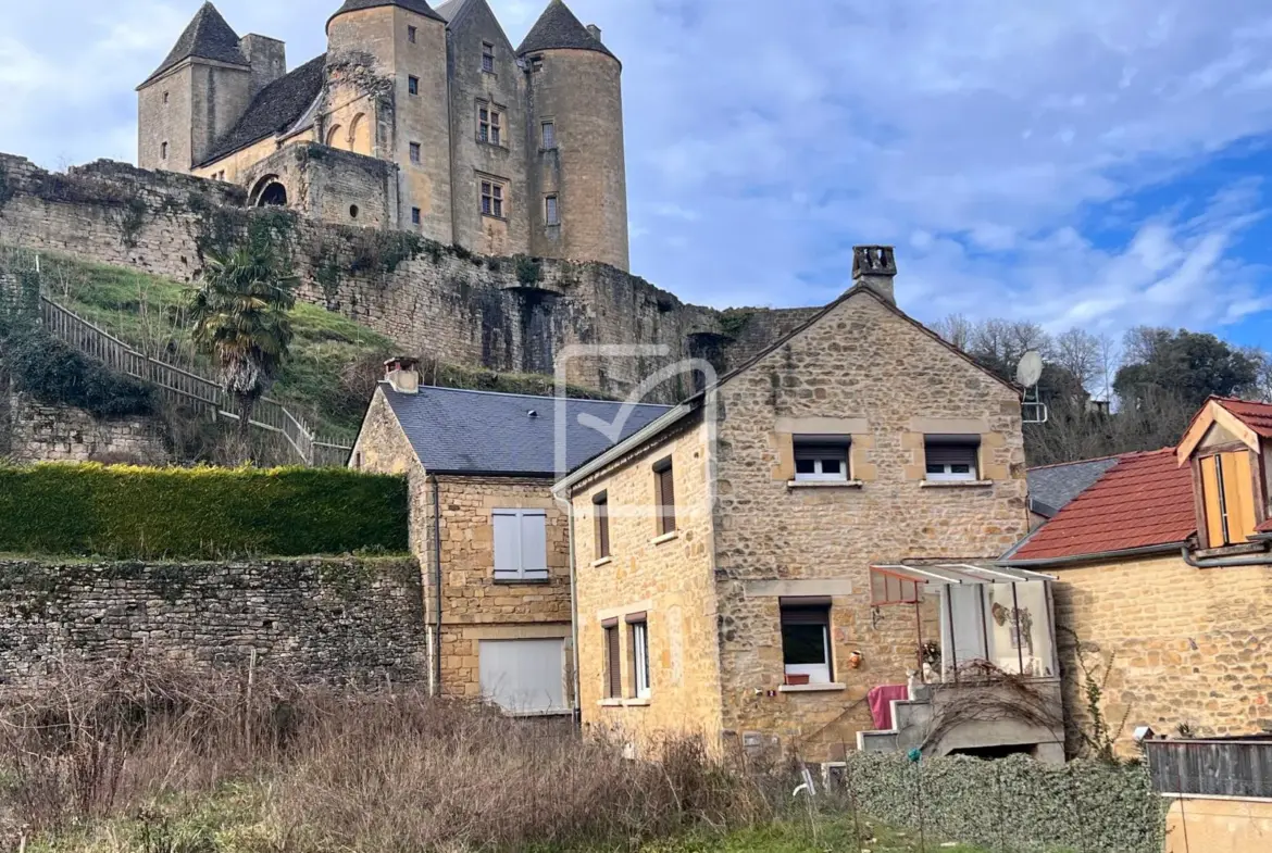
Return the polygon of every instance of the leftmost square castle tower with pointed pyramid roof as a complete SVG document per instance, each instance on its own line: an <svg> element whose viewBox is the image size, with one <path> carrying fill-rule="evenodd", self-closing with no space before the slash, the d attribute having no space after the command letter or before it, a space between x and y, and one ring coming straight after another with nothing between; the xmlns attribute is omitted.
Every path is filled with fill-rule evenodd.
<svg viewBox="0 0 1272 853"><path fill-rule="evenodd" d="M188 173L252 100L251 61L205 3L159 69L137 86L137 165Z"/></svg>

